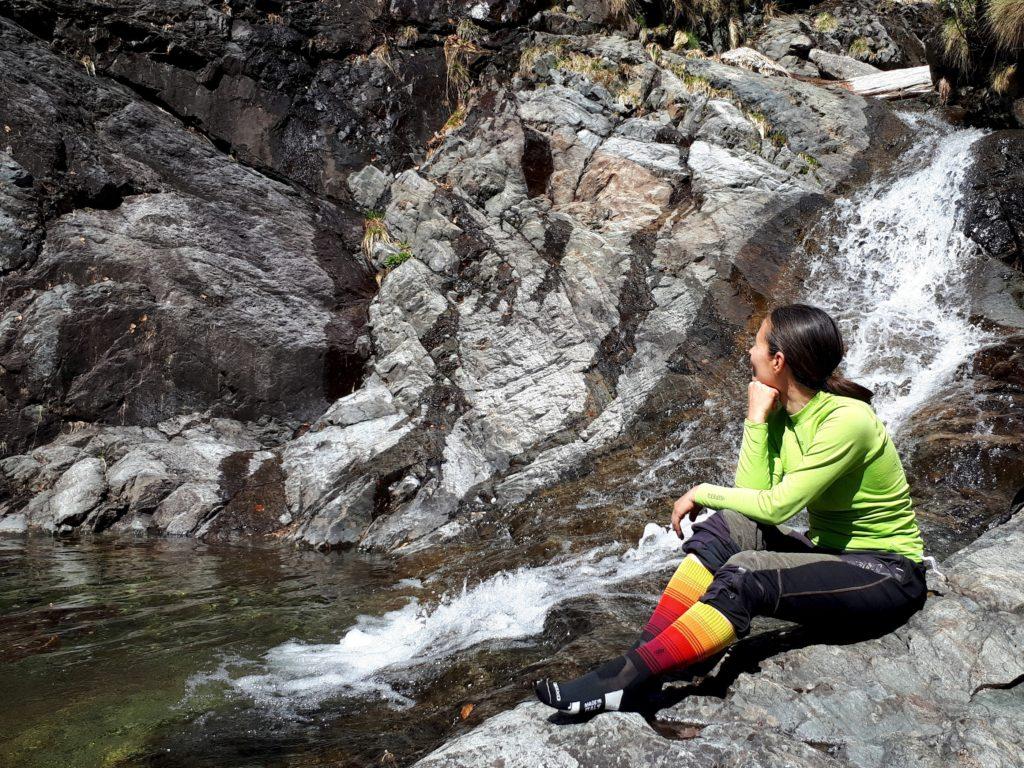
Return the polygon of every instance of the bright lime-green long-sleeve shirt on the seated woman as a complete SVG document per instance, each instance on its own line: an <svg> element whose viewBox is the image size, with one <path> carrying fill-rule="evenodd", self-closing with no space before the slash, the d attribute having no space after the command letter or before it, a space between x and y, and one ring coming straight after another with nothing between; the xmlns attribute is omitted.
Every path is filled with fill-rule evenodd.
<svg viewBox="0 0 1024 768"><path fill-rule="evenodd" d="M807 507L807 536L818 546L924 556L896 447L861 400L819 391L792 416L744 420L735 483L701 483L695 501L769 525Z"/></svg>

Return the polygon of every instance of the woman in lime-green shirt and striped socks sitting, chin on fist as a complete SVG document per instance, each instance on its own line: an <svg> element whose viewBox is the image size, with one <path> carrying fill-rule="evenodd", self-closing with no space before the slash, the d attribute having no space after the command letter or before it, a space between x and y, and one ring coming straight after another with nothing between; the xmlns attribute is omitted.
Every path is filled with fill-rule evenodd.
<svg viewBox="0 0 1024 768"><path fill-rule="evenodd" d="M843 351L836 322L816 307L778 307L761 324L735 487L701 483L676 501L679 535L683 516L720 511L693 526L640 640L577 680L539 680L542 701L617 710L651 676L745 636L756 615L863 630L898 626L925 604L903 467L870 390L835 373ZM779 524L805 507L806 535Z"/></svg>

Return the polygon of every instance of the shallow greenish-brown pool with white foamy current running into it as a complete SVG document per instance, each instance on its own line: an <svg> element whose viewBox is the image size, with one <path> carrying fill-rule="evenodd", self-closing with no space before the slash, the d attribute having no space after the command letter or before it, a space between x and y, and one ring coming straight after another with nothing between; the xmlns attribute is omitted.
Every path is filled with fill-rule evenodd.
<svg viewBox="0 0 1024 768"><path fill-rule="evenodd" d="M408 765L628 642L673 557L546 550L0 539L0 765Z"/></svg>

